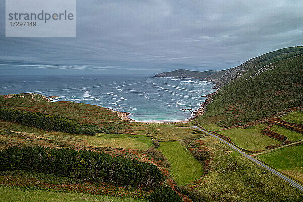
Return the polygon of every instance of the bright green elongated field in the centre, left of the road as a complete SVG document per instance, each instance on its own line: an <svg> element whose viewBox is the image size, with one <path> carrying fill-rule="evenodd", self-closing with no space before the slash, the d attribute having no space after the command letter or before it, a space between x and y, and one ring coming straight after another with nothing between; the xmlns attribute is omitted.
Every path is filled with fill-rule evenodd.
<svg viewBox="0 0 303 202"><path fill-rule="evenodd" d="M170 174L178 185L188 184L203 175L203 165L180 142L160 142L158 150L171 163Z"/></svg>

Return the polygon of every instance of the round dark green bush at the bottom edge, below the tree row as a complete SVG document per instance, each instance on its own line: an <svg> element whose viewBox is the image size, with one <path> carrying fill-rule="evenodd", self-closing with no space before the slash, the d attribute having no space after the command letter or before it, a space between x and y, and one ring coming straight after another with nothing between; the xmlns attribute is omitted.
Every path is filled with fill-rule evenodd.
<svg viewBox="0 0 303 202"><path fill-rule="evenodd" d="M170 187L159 187L150 195L149 202L182 202L182 199Z"/></svg>

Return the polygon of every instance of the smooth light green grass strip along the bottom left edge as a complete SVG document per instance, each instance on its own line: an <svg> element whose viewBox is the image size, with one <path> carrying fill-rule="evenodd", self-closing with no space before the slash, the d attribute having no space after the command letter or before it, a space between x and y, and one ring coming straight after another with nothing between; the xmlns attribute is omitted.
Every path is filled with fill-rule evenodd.
<svg viewBox="0 0 303 202"><path fill-rule="evenodd" d="M0 198L1 201L102 201L102 202L139 202L147 201L142 199L134 198L119 198L110 196L100 196L92 194L81 194L81 193L63 193L63 192L52 192L49 190L26 190L22 188L11 188L6 186L0 186Z"/></svg>

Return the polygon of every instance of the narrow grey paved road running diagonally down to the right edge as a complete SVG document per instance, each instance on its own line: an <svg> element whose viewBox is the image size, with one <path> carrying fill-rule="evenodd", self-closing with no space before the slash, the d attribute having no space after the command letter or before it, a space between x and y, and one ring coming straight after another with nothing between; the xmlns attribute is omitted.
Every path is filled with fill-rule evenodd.
<svg viewBox="0 0 303 202"><path fill-rule="evenodd" d="M222 141L223 143L227 144L229 147L233 148L234 150L238 151L239 153L241 153L243 156L247 157L248 159L250 159L251 161L255 162L256 164L259 164L260 166L262 166L263 168L265 168L266 170L272 172L273 174L277 175L278 177L282 178L283 180L285 180L286 182L288 182L289 184L291 184L292 186L296 187L297 189L303 191L303 186L300 185L299 183L293 181L292 179L286 177L285 175L279 173L278 171L276 171L275 169L265 165L264 163L262 163L261 161L258 161L257 159L255 159L254 157L251 157L250 155L246 154L244 151L238 149L237 147L235 147L234 145L228 143L227 141L225 141L224 139L214 135L214 134L211 134L201 128L199 128L198 126L192 126L192 128L196 128L208 135L211 135L212 137Z"/></svg>

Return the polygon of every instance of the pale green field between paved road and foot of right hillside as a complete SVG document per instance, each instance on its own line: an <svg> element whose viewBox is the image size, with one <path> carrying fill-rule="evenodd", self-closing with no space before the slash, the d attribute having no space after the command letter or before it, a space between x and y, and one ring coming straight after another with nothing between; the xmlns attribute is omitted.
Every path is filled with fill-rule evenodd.
<svg viewBox="0 0 303 202"><path fill-rule="evenodd" d="M262 135L260 132L265 127L265 124L259 124L246 129L232 128L222 130L218 133L229 137L231 141L240 148L250 151L259 151L264 150L268 145L281 143L278 140Z"/></svg>

